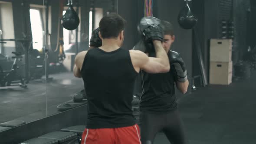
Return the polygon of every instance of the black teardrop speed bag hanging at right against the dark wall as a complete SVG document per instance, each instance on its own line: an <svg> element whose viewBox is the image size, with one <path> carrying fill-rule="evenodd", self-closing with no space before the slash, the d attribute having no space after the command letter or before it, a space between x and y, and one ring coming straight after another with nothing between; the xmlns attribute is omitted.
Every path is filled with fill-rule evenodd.
<svg viewBox="0 0 256 144"><path fill-rule="evenodd" d="M192 14L190 7L188 5L188 0L186 0L186 5L182 8L178 16L178 23L183 29L192 29L197 24L197 19Z"/></svg>

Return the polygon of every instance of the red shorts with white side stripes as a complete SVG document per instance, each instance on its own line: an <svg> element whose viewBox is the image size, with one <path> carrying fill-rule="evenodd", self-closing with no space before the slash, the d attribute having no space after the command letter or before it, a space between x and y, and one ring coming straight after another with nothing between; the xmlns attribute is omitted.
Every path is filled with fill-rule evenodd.
<svg viewBox="0 0 256 144"><path fill-rule="evenodd" d="M122 128L85 128L81 144L141 144L140 139L137 124Z"/></svg>

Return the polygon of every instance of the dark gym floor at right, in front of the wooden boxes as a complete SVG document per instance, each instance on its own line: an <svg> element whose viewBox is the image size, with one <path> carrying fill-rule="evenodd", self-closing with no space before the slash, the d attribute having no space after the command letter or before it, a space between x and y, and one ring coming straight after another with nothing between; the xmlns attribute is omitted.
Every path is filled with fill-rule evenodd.
<svg viewBox="0 0 256 144"><path fill-rule="evenodd" d="M256 72L229 86L210 85L181 98L189 144L256 144ZM170 144L159 133L154 144Z"/></svg>

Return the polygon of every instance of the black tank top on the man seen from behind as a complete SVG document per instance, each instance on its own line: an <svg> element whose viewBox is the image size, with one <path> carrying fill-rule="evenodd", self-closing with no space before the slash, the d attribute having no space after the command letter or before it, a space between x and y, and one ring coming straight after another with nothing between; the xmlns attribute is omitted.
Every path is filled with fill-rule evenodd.
<svg viewBox="0 0 256 144"><path fill-rule="evenodd" d="M135 124L131 101L135 71L126 49L90 49L81 69L88 100L87 128L120 128Z"/></svg>

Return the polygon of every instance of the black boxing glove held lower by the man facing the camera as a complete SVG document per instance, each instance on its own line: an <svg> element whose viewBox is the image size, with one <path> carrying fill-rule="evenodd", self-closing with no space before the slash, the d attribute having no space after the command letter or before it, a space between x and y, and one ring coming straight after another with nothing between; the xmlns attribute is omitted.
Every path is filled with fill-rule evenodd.
<svg viewBox="0 0 256 144"><path fill-rule="evenodd" d="M184 60L181 58L178 52L171 51L169 52L170 66L174 66L175 69L175 79L178 82L187 81L187 69L184 63Z"/></svg>

